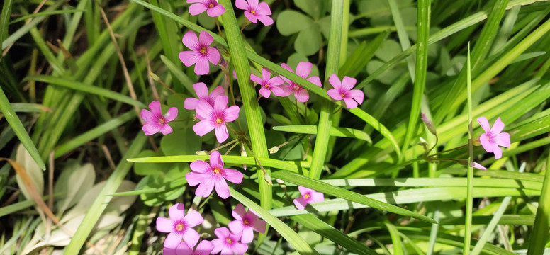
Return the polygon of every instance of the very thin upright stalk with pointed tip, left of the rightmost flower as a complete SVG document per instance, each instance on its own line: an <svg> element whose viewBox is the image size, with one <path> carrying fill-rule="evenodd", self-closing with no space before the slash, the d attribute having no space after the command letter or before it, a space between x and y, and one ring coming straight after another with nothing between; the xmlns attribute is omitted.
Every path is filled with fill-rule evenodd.
<svg viewBox="0 0 550 255"><path fill-rule="evenodd" d="M472 131L472 84L471 84L471 69L470 69L470 44L468 43L468 59L466 69L466 86L468 93L468 174L466 188L466 223L464 224L464 251L462 254L470 253L471 242L471 226L472 226L472 210L473 210L473 131Z"/></svg>

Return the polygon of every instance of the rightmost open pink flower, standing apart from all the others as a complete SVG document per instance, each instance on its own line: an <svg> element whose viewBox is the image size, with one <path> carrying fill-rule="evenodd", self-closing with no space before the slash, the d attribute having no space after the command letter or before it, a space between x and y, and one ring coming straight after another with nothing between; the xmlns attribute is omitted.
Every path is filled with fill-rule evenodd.
<svg viewBox="0 0 550 255"><path fill-rule="evenodd" d="M503 157L503 151L500 149L500 146L510 148L510 134L507 132L501 132L504 129L504 123L500 120L500 117L495 120L493 128L490 128L487 118L480 117L478 118L478 123L485 131L479 137L479 141L487 152L494 152L495 159L500 159Z"/></svg>

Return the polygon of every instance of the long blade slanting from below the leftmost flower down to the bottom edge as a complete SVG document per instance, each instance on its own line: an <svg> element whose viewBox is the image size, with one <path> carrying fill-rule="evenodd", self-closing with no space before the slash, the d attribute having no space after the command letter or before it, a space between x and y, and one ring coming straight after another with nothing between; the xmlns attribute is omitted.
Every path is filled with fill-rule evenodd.
<svg viewBox="0 0 550 255"><path fill-rule="evenodd" d="M94 203L91 204L90 208L93 208L93 210L86 212L84 220L82 220L77 232L74 233L74 237L71 238L71 242L69 242L69 245L65 248L64 252L66 254L79 254L79 251L82 249L86 239L88 239L91 230L94 229L99 217L103 214L103 210L105 210L109 201L113 199L113 197L108 196L108 194L116 192L120 186L120 183L122 183L123 179L128 174L128 171L130 171L133 163L128 162L126 159L138 155L142 147L145 145L145 140L146 136L141 132L137 137L135 137L132 145L130 145L130 149L128 149L128 152L126 152L123 159L120 160L115 171L113 171L111 176L109 176L105 186L101 189L97 198L94 200Z"/></svg>

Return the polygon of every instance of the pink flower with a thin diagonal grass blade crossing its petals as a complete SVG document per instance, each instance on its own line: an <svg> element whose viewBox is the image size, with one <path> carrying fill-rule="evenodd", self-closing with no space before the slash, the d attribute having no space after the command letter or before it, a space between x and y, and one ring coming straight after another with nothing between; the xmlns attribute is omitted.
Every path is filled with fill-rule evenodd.
<svg viewBox="0 0 550 255"><path fill-rule="evenodd" d="M293 72L292 68L288 67L288 64L286 63L281 64L281 67L287 69L290 72ZM313 67L313 64L311 64L310 62L300 62L298 63L298 67L296 67L296 74L299 77L306 79L306 77L308 77L309 73L311 72L311 67ZM286 84L281 86L281 89L283 89L284 91L281 96L288 96L294 93L294 97L296 97L296 100L300 103L304 103L309 100L308 91L304 89L303 86L295 83L294 81L286 79L286 77L281 76L281 78L286 81ZM319 77L309 77L307 80L317 86L322 86Z"/></svg>

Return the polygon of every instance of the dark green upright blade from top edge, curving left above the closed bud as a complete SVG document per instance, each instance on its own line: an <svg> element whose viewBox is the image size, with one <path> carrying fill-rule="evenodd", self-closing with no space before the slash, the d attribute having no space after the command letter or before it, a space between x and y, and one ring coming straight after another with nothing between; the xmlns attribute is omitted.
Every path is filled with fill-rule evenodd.
<svg viewBox="0 0 550 255"><path fill-rule="evenodd" d="M412 92L412 103L410 105L409 124L405 134L405 142L403 142L402 152L407 151L412 136L416 134L416 124L420 118L420 103L424 95L426 86L427 61L428 61L428 38L430 37L430 6L431 0L418 1L417 6L417 56L415 76L412 78L415 81L414 91ZM396 24L397 26L397 24ZM399 30L398 30L399 31ZM400 39L401 40L401 39ZM407 39L408 42L408 39ZM401 42L402 46L403 41ZM410 64L409 64L410 69Z"/></svg>

